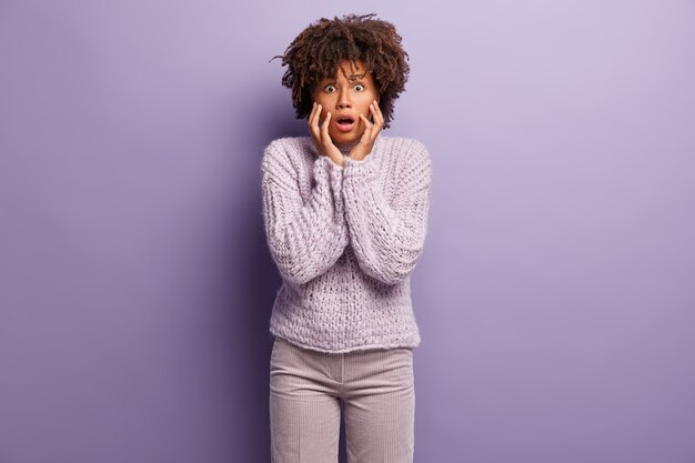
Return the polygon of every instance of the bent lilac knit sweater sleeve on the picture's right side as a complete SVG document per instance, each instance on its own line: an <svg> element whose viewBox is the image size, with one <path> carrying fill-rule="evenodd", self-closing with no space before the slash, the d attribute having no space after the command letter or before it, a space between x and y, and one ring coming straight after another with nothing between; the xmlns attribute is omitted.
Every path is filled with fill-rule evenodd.
<svg viewBox="0 0 695 463"><path fill-rule="evenodd" d="M345 160L343 200L352 248L360 268L369 275L395 284L415 268L430 209L431 159L415 142L403 158L401 180L389 202L381 191L375 162Z"/></svg>

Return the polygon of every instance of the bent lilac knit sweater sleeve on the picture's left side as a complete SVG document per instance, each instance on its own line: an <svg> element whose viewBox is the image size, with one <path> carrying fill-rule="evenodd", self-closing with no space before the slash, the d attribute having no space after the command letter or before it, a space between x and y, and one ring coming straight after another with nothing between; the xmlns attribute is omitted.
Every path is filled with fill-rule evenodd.
<svg viewBox="0 0 695 463"><path fill-rule="evenodd" d="M261 185L268 244L282 276L296 284L329 270L350 241L340 191L343 168L321 155L312 170L314 187L304 201L288 148L275 141L265 149Z"/></svg>

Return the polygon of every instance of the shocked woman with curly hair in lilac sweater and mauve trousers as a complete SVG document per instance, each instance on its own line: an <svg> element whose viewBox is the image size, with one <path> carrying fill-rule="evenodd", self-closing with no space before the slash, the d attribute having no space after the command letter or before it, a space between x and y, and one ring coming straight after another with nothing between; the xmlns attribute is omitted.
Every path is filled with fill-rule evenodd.
<svg viewBox="0 0 695 463"><path fill-rule="evenodd" d="M282 275L270 320L275 463L335 463L341 404L350 463L412 462L410 276L425 241L425 147L381 134L407 80L395 28L321 19L288 47L282 83L308 137L265 149L271 255Z"/></svg>

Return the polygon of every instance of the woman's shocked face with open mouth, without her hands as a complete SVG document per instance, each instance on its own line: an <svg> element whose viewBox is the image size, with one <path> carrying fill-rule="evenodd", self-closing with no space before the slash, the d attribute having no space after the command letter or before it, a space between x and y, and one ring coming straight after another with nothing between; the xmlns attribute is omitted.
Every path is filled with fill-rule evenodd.
<svg viewBox="0 0 695 463"><path fill-rule="evenodd" d="M338 69L334 77L319 82L312 98L322 107L320 124L325 120L326 113L331 113L329 122L331 140L349 143L362 137L365 125L360 114L364 114L367 120L372 119L370 103L379 100L379 93L372 73L366 71L362 61L355 62L354 70L350 69L348 60L342 61L340 66L348 78Z"/></svg>

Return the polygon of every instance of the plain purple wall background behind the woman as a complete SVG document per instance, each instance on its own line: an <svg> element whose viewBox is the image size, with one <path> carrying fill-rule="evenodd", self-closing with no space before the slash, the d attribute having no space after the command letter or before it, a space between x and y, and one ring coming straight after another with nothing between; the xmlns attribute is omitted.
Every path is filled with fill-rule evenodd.
<svg viewBox="0 0 695 463"><path fill-rule="evenodd" d="M269 461L269 59L350 11L433 158L416 461L695 462L695 3L3 0L0 463Z"/></svg>

